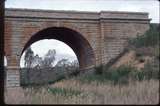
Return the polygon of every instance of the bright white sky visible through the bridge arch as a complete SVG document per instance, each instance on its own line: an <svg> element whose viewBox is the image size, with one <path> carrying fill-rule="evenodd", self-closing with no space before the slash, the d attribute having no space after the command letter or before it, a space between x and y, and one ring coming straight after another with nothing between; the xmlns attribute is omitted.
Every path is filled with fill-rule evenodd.
<svg viewBox="0 0 160 106"><path fill-rule="evenodd" d="M77 60L77 56L74 51L67 44L55 39L45 39L35 42L31 45L31 49L34 51L34 55L38 54L39 57L42 58L47 54L49 49L55 49L56 56L54 65L61 59L68 59L70 62ZM25 53L23 53L20 60L21 67L24 67L24 56Z"/></svg>

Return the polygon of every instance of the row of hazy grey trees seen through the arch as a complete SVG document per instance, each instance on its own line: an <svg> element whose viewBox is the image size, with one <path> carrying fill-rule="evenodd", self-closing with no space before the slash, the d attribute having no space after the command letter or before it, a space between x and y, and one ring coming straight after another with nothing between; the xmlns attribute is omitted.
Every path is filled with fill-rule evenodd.
<svg viewBox="0 0 160 106"><path fill-rule="evenodd" d="M70 62L68 59L61 59L59 60L56 65L55 64L55 56L56 56L56 50L52 49L49 50L45 56L42 58L38 54L34 54L31 47L29 47L25 51L24 56L24 66L25 68L48 68L48 67L78 67L78 61L74 60L73 62Z"/></svg>

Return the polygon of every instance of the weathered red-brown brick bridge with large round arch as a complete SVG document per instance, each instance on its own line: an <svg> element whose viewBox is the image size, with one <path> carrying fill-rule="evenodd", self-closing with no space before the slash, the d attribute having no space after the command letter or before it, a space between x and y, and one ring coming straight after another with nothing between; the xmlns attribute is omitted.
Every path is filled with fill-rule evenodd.
<svg viewBox="0 0 160 106"><path fill-rule="evenodd" d="M80 69L107 64L127 40L149 28L148 13L5 9L7 85L19 86L20 57L32 43L57 39L77 55Z"/></svg>

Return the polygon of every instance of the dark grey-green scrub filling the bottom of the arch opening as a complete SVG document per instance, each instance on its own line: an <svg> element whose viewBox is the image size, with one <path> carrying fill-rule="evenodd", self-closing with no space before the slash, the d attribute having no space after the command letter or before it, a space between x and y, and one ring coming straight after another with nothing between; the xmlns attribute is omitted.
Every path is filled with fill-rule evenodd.
<svg viewBox="0 0 160 106"><path fill-rule="evenodd" d="M51 84L78 74L78 69L63 70L63 67L22 68L20 69L20 84L21 86Z"/></svg>

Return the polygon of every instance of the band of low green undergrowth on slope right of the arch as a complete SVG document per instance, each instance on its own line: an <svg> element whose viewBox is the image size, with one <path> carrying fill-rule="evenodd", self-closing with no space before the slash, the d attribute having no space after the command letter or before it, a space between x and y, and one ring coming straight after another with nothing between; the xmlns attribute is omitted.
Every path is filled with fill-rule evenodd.
<svg viewBox="0 0 160 106"><path fill-rule="evenodd" d="M101 72L95 72L94 74L84 75L80 76L77 79L82 83L91 83L91 82L111 82L114 85L121 84L125 85L128 84L129 79L131 80L150 80L150 79L159 79L159 67L155 68L151 62L147 63L142 70L137 70L134 67L128 66L128 65L122 65L117 68L111 68L109 70L105 70L106 67L99 66L96 71Z"/></svg>

